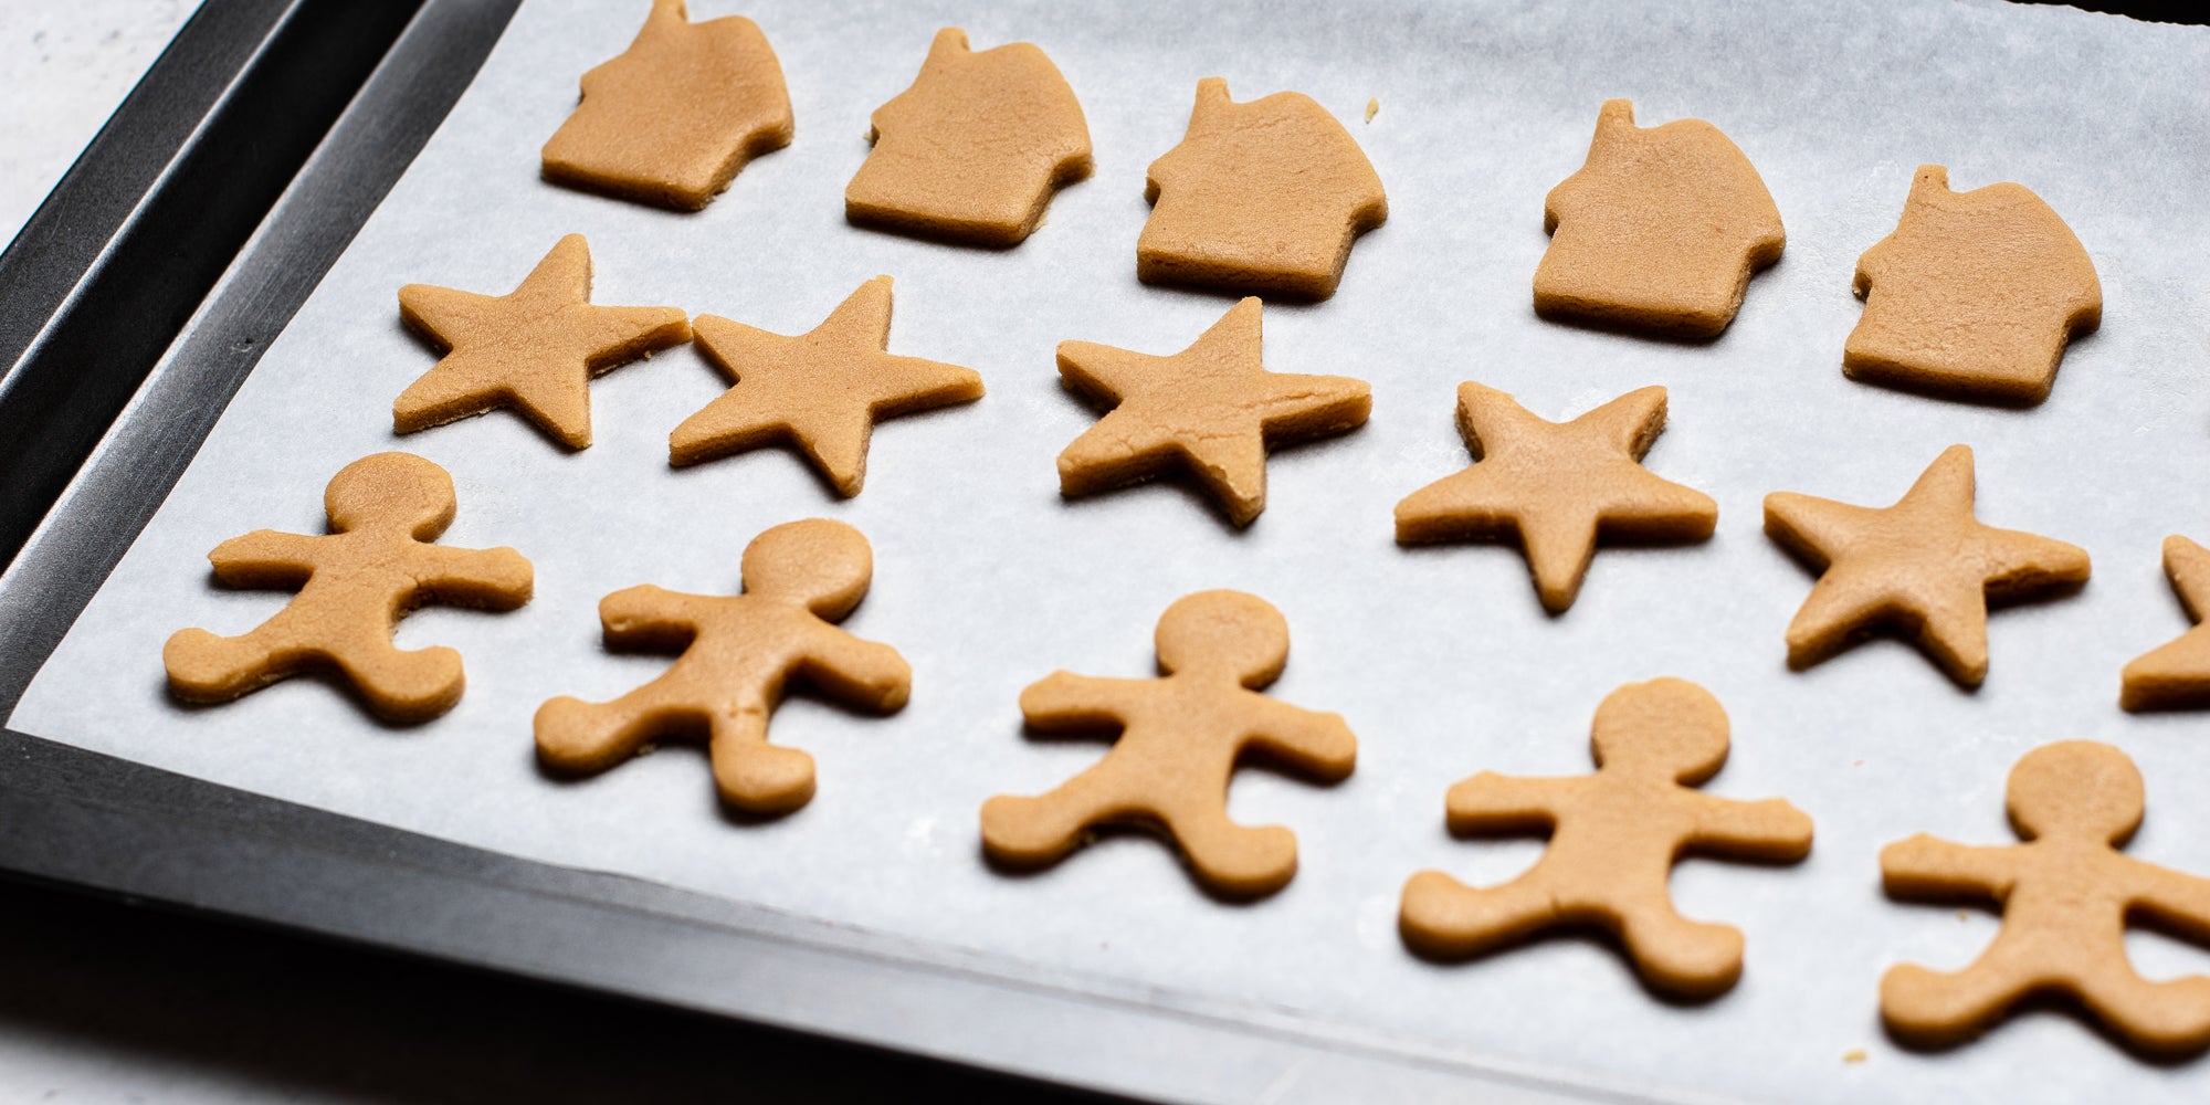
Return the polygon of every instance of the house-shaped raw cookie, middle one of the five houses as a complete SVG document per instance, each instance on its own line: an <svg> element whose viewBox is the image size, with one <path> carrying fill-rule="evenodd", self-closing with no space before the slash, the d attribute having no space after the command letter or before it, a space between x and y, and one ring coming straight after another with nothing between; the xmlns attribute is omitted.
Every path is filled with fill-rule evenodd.
<svg viewBox="0 0 2210 1105"><path fill-rule="evenodd" d="M1388 219L1357 139L1304 93L1235 104L1198 82L1182 144L1151 161L1136 278L1275 298L1335 294L1350 241Z"/></svg>

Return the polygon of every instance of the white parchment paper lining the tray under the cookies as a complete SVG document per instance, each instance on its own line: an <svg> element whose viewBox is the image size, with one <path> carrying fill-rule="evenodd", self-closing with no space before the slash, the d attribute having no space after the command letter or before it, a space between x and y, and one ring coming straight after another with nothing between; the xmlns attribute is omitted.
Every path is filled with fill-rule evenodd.
<svg viewBox="0 0 2210 1105"><path fill-rule="evenodd" d="M1905 0L692 9L760 22L789 75L798 141L698 214L546 186L539 144L575 106L577 75L630 40L643 4L524 4L11 725L535 860L1655 1094L2210 1094L2210 1063L2148 1065L2046 1012L1958 1052L1903 1052L1874 1003L1890 964L1960 966L1996 930L1985 913L1887 902L1876 851L1916 831L2009 842L2002 780L2035 745L2124 747L2150 802L2133 853L2210 873L2199 800L2210 718L2117 709L2124 661L2186 628L2157 566L2161 537L2210 537L2210 33ZM842 219L869 113L911 82L944 24L966 27L977 49L1039 42L1087 110L1096 175L1061 192L1019 250L930 245ZM1359 241L1330 303L1266 309L1269 367L1370 380L1372 420L1277 453L1266 513L1244 533L1174 484L1063 502L1052 466L1094 420L1056 382L1059 340L1167 354L1229 307L1134 278L1145 166L1180 139L1207 75L1229 77L1238 99L1313 95L1390 197L1388 225ZM1580 166L1604 97L1633 97L1644 126L1715 122L1781 208L1788 252L1717 343L1596 334L1529 309L1543 194ZM1379 99L1372 122L1368 99ZM1958 188L2027 183L2095 259L2102 332L2066 354L2040 409L1841 376L1861 312L1852 265L1894 228L1923 161L1949 166ZM891 349L970 365L990 393L886 422L851 502L774 449L670 471L667 431L723 387L687 347L597 380L597 444L581 453L511 413L396 438L391 400L433 360L400 327L396 290L506 292L566 232L590 236L599 303L678 305L785 334L888 272ZM1717 537L1598 555L1558 619L1509 548L1397 548L1395 502L1467 462L1452 429L1461 380L1547 418L1666 385L1673 424L1649 464L1719 499ZM1887 504L1951 442L1978 453L1985 522L2086 546L2095 579L2077 597L1998 612L1978 694L1896 641L1788 672L1781 630L1810 577L1764 539L1759 499L1786 488ZM460 707L389 729L307 678L212 709L172 703L159 659L170 632L243 632L285 601L212 586L206 552L261 526L320 533L323 484L380 449L453 471L460 519L446 544L513 544L537 564L537 599L519 612L424 610L402 625L407 648L466 656ZM665 663L599 648L601 594L645 581L727 592L745 541L813 515L873 539L875 588L846 625L899 648L915 694L880 720L815 701L778 714L776 740L818 758L804 811L725 820L690 749L588 782L537 771L537 703L608 698ZM1341 712L1361 738L1357 776L1339 787L1262 771L1235 782L1235 818L1297 831L1288 891L1213 902L1145 838L1105 840L1032 877L983 866L983 798L1048 789L1101 754L1023 738L1019 690L1054 667L1149 674L1158 612L1220 586L1286 612L1295 645L1275 694ZM1395 917L1412 871L1496 882L1536 855L1532 842L1452 840L1445 787L1476 769L1587 771L1596 703L1658 674L1711 687L1733 716L1733 760L1711 791L1786 796L1817 820L1801 866L1691 862L1673 880L1684 913L1746 933L1741 986L1669 1006L1587 941L1465 966L1406 955ZM2148 935L2135 955L2153 977L2210 966ZM1863 1061L1845 1061L1854 1050Z"/></svg>

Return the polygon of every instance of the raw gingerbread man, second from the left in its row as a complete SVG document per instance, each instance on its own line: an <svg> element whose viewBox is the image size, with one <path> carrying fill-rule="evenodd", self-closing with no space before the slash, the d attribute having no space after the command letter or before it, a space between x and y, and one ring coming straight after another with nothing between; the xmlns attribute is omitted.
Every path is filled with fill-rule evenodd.
<svg viewBox="0 0 2210 1105"><path fill-rule="evenodd" d="M650 583L599 601L606 648L681 652L674 667L612 703L537 707L537 756L555 771L599 774L656 738L707 740L720 800L754 815L813 798L813 758L767 743L767 718L796 676L840 703L895 712L913 670L891 645L840 628L875 575L860 530L822 517L776 526L745 546L743 594L681 594Z"/></svg>

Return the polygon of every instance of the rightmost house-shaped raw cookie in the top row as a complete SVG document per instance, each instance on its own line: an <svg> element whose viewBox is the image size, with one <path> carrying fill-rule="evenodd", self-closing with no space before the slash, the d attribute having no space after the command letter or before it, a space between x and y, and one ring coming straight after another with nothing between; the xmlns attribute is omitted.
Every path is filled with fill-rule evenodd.
<svg viewBox="0 0 2210 1105"><path fill-rule="evenodd" d="M1918 166L1896 232L1856 259L1856 294L1843 373L1965 400L2046 400L2064 345L2102 325L2064 219L2022 183L1951 192L1943 166Z"/></svg>

